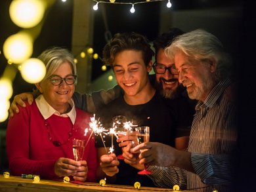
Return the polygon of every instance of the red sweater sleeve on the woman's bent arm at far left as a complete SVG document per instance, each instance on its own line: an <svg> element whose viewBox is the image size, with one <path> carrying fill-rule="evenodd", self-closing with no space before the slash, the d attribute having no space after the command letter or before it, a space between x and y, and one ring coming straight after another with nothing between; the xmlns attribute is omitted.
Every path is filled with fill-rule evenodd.
<svg viewBox="0 0 256 192"><path fill-rule="evenodd" d="M35 103L33 103L35 105ZM56 178L55 160L30 159L30 117L32 106L19 107L20 113L9 119L7 126L7 155L11 174L39 174L42 178ZM35 111L33 111L35 112ZM43 145L43 144L42 144Z"/></svg>

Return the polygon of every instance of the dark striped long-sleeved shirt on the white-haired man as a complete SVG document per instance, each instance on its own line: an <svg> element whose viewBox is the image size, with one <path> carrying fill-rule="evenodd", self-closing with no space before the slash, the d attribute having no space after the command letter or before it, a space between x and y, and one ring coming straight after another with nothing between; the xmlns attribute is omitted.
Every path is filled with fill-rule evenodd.
<svg viewBox="0 0 256 192"><path fill-rule="evenodd" d="M183 189L203 192L232 191L237 130L235 105L226 92L230 84L229 79L219 82L205 102L196 105L188 145L196 174L177 167L150 166L154 172L150 177L156 185L178 184Z"/></svg>

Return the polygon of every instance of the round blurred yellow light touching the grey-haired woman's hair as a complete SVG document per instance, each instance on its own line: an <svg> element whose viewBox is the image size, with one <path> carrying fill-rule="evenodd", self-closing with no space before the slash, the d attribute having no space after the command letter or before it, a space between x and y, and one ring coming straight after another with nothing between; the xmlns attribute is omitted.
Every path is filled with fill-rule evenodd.
<svg viewBox="0 0 256 192"><path fill-rule="evenodd" d="M45 77L45 64L37 58L30 58L22 64L20 73L28 83L39 83Z"/></svg>

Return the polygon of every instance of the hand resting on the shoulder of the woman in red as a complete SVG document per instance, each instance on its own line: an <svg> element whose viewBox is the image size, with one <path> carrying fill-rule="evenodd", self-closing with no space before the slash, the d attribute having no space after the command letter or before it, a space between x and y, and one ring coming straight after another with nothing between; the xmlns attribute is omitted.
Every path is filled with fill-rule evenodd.
<svg viewBox="0 0 256 192"><path fill-rule="evenodd" d="M21 94L17 94L14 96L11 107L9 109L10 117L13 117L14 112L18 113L18 106L26 107L24 101L28 101L28 104L32 104L33 102L33 94L31 92L24 92Z"/></svg>

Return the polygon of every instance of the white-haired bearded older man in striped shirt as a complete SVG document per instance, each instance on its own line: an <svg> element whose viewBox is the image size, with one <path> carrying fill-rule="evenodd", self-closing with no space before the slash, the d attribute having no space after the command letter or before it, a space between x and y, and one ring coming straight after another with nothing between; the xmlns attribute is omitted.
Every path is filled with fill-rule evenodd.
<svg viewBox="0 0 256 192"><path fill-rule="evenodd" d="M140 155L140 163L156 165L149 169L158 186L179 183L203 192L233 191L237 130L229 57L219 39L202 29L179 36L166 52L175 61L188 96L199 101L188 151L150 142L131 152L148 149Z"/></svg>

